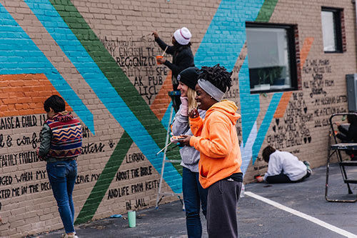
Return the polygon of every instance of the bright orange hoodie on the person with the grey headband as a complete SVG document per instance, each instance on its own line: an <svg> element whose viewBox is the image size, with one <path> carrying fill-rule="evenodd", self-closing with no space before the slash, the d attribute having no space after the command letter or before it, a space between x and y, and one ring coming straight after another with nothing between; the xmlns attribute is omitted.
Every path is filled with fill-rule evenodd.
<svg viewBox="0 0 357 238"><path fill-rule="evenodd" d="M236 132L236 122L241 115L233 101L223 100L213 104L206 112L206 118L190 118L193 137L191 147L201 156L198 163L199 181L203 188L241 172L241 149Z"/></svg>

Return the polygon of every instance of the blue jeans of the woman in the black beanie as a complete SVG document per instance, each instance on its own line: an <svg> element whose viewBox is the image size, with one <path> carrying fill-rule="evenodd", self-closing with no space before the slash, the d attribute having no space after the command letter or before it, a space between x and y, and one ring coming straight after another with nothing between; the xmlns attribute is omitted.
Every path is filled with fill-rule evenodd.
<svg viewBox="0 0 357 238"><path fill-rule="evenodd" d="M183 167L182 172L183 201L186 209L186 228L188 237L201 237L202 225L200 218L200 204L206 218L207 189L203 189L198 181L198 173Z"/></svg>

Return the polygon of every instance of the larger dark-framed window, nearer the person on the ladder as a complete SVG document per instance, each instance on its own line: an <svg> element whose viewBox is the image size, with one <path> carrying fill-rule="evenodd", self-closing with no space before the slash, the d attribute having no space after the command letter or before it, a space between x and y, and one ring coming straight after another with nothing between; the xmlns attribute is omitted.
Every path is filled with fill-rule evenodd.
<svg viewBox="0 0 357 238"><path fill-rule="evenodd" d="M246 23L251 93L297 89L295 28Z"/></svg>

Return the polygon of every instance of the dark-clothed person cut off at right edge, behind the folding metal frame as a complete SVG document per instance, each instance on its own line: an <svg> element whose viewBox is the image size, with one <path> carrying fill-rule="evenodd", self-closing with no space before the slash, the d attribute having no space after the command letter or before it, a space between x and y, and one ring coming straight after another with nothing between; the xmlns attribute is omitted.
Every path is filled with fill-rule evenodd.
<svg viewBox="0 0 357 238"><path fill-rule="evenodd" d="M357 143L357 116L355 114L348 114L347 121L350 124L348 129L343 127L339 122L335 122L340 132L336 134L336 137L341 139L342 143ZM345 152L351 157L351 160L357 160L357 151L348 149Z"/></svg>

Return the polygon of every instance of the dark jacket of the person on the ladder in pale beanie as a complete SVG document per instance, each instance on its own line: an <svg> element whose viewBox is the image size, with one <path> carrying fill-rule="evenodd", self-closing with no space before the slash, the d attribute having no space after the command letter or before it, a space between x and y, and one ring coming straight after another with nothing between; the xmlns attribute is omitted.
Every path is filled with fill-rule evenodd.
<svg viewBox="0 0 357 238"><path fill-rule="evenodd" d="M165 50L166 46L166 53L167 54L172 54L173 59L172 63L168 60L164 63L166 66L169 67L169 69L172 70L172 75L173 75L173 84L178 84L176 81L176 78L178 74L180 74L183 69L187 69L188 67L195 66L194 60L193 60L193 54L191 51L191 46L169 46L167 45L164 41L162 41L159 37L155 39L157 44L159 44L160 48ZM174 83L175 79L175 83Z"/></svg>

